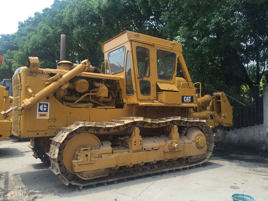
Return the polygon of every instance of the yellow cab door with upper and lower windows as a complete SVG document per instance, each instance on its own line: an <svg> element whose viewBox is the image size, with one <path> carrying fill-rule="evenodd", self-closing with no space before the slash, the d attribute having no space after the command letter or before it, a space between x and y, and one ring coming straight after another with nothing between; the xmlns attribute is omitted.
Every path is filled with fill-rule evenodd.
<svg viewBox="0 0 268 201"><path fill-rule="evenodd" d="M154 48L152 45L132 42L135 80L138 99L153 100L156 89L153 80Z"/></svg>

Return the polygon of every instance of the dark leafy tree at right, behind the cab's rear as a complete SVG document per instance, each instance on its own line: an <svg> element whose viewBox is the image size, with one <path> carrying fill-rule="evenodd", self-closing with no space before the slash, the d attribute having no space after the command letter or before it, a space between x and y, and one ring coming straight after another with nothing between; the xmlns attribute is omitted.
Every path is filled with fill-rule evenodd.
<svg viewBox="0 0 268 201"><path fill-rule="evenodd" d="M166 36L184 44L194 80L207 87L251 91L267 75L268 1L172 1ZM254 74L247 64L253 63ZM266 79L267 80L267 79Z"/></svg>

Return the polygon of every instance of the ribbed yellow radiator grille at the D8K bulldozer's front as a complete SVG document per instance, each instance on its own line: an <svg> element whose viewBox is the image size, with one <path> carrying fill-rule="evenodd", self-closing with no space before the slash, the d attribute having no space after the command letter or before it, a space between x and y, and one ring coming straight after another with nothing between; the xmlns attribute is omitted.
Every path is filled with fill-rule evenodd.
<svg viewBox="0 0 268 201"><path fill-rule="evenodd" d="M21 106L21 81L20 74L16 73L12 77L13 88L13 108ZM12 133L14 135L20 134L20 115L18 111L12 111Z"/></svg>

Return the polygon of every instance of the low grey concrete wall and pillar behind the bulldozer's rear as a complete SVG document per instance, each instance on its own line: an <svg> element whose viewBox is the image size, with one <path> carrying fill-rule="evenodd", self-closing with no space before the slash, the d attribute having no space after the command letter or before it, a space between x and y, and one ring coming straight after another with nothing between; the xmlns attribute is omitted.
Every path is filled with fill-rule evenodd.
<svg viewBox="0 0 268 201"><path fill-rule="evenodd" d="M268 150L268 85L263 88L263 124L233 131L219 129L215 142L237 147Z"/></svg>

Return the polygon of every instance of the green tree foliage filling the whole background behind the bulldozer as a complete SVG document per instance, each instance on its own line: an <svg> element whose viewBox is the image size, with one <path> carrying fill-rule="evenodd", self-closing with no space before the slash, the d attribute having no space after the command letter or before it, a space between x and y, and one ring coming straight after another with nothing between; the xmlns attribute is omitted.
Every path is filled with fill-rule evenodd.
<svg viewBox="0 0 268 201"><path fill-rule="evenodd" d="M268 0L55 0L42 13L2 35L0 79L38 56L42 68L67 59L101 66L101 43L124 30L181 42L193 81L237 93L268 83ZM250 63L250 65L248 65ZM258 88L257 88L258 89Z"/></svg>

